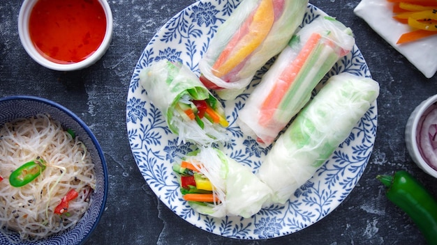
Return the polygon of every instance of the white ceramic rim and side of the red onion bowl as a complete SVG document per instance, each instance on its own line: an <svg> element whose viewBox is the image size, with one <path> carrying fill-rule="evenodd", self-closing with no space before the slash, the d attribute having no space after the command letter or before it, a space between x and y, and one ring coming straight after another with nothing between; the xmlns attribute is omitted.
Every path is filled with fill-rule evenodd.
<svg viewBox="0 0 437 245"><path fill-rule="evenodd" d="M437 103L437 95L429 97L427 100L424 100L420 103L411 113L410 118L408 118L406 129L405 129L405 142L408 153L410 154L413 161L422 168L425 173L437 178L437 171L434 168L431 168L429 164L423 159L420 154L419 148L417 146L417 125L419 123L420 118L423 113L427 111L429 106Z"/></svg>

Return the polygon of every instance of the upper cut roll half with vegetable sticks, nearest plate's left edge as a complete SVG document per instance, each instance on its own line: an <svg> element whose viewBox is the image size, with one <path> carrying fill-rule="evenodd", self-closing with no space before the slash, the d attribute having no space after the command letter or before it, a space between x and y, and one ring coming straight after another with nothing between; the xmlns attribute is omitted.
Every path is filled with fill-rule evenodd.
<svg viewBox="0 0 437 245"><path fill-rule="evenodd" d="M221 102L182 63L161 60L144 68L139 77L170 131L179 135L178 144L190 141L205 145L228 139Z"/></svg>

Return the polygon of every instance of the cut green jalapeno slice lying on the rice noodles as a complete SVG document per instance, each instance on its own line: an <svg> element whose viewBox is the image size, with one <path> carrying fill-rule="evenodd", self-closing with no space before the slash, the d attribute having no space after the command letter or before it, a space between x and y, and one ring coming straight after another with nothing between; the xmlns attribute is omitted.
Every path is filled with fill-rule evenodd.
<svg viewBox="0 0 437 245"><path fill-rule="evenodd" d="M35 180L45 170L45 161L37 157L36 160L28 161L9 176L9 183L13 187L22 187Z"/></svg>

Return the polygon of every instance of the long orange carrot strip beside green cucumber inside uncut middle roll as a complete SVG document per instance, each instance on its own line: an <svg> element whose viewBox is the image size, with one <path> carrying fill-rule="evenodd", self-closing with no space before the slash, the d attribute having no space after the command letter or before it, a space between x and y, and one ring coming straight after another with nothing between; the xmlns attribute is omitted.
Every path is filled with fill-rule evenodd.
<svg viewBox="0 0 437 245"><path fill-rule="evenodd" d="M263 116L270 118L273 116L274 109L281 103L283 96L287 93L288 88L291 86L299 70L302 69L306 60L308 60L311 52L315 47L317 47L318 42L322 38L320 33L313 33L309 40L305 43L302 50L297 54L297 57L288 68L284 70L278 77L278 81L274 84L274 88L270 90L269 95L266 97L265 101L262 103L261 111L263 111Z"/></svg>

